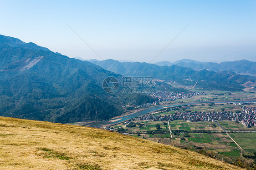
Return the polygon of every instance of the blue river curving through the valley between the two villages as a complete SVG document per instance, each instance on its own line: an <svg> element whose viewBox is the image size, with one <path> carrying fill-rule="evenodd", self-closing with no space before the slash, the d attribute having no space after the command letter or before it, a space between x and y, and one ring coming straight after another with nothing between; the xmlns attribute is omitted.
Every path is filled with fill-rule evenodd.
<svg viewBox="0 0 256 170"><path fill-rule="evenodd" d="M99 121L99 122L95 122L95 123L92 123L90 124L89 126L90 127L102 127L104 125L113 125L113 124L116 124L116 123L119 123L119 122L122 122L122 121L125 121L125 120L129 120L131 118L134 118L136 116L140 116L140 115L143 115L143 114L146 114L148 112L152 112L152 111L155 111L155 110L159 110L159 109L162 109L164 107L173 107L173 106L178 106L178 105L197 105L197 104L204 104L204 103L230 103L230 102L239 102L239 103L254 103L256 102L256 100L250 100L250 101L238 101L238 100L229 100L229 101L205 101L205 102L193 102L193 103L185 103L185 104L176 104L176 105L158 105L158 106L154 106L154 107L151 107L151 108L148 108L148 109L145 109L145 110L140 110L138 112L135 112L131 115L124 115L120 118L117 119L117 121L114 121L114 122L110 122L110 120L104 120L104 121ZM120 120L119 120L120 119Z"/></svg>

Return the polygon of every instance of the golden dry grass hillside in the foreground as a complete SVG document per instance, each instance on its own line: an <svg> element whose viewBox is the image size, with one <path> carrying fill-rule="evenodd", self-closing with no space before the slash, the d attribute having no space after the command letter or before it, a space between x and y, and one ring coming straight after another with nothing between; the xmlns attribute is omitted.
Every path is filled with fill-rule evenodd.
<svg viewBox="0 0 256 170"><path fill-rule="evenodd" d="M3 170L238 170L198 153L90 127L0 117Z"/></svg>

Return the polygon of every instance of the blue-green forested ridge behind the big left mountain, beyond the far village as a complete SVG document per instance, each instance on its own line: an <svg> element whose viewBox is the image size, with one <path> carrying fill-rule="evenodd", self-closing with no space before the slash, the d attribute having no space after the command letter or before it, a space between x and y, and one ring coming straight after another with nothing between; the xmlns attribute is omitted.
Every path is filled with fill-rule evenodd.
<svg viewBox="0 0 256 170"><path fill-rule="evenodd" d="M116 60L91 61L102 68L125 76L154 76L155 79L177 82L205 90L241 91L246 82L255 82L256 77L238 75L232 71L196 71L178 65L159 66L148 63L124 62Z"/></svg>

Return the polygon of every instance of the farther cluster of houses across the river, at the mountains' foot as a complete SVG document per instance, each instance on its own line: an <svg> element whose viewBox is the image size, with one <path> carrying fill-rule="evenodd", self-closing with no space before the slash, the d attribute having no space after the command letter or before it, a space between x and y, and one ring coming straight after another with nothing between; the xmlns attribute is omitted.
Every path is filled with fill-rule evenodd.
<svg viewBox="0 0 256 170"><path fill-rule="evenodd" d="M186 99L195 95L206 95L205 92L193 92L193 93L174 93L167 91L154 92L151 97L157 98L159 101L172 101L177 99Z"/></svg>

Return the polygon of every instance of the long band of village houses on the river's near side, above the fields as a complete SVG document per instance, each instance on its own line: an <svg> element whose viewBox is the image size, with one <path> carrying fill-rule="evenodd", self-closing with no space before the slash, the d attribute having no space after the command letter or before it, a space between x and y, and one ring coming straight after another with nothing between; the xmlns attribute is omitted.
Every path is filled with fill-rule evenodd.
<svg viewBox="0 0 256 170"><path fill-rule="evenodd" d="M154 115L152 113L144 114L133 120L147 120L147 121L172 121L172 120L184 120L184 121L217 121L217 120L230 120L240 121L246 127L256 126L256 107L243 106L243 111L240 113L234 112L177 112L170 115Z"/></svg>

